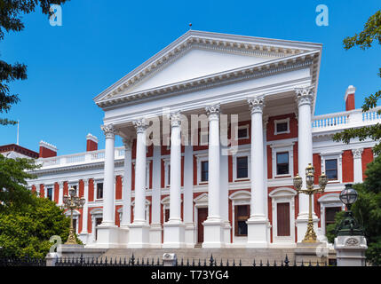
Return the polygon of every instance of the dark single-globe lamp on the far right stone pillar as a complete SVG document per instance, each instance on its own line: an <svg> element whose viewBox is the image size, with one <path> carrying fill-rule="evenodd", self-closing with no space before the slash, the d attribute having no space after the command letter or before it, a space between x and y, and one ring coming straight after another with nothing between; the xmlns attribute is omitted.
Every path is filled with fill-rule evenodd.
<svg viewBox="0 0 381 284"><path fill-rule="evenodd" d="M357 200L357 192L353 189L352 184L345 185L345 189L340 193L339 198L342 201L347 211L345 217L337 227L337 236L362 236L361 225L353 217L351 211L352 204Z"/></svg>

